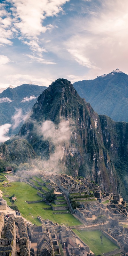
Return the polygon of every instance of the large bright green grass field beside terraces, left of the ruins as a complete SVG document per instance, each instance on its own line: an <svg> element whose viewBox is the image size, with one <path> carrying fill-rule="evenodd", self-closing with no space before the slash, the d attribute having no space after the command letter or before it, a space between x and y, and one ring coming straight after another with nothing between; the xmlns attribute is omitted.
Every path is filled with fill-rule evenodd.
<svg viewBox="0 0 128 256"><path fill-rule="evenodd" d="M37 216L41 216L43 219L49 219L53 222L58 222L58 224L63 223L67 226L81 225L81 222L79 220L76 220L76 218L70 213L53 214L53 210L51 209L44 210L43 208L51 208L51 206L46 205L45 202L27 204L25 201L36 201L42 199L41 196L37 195L36 188L33 188L24 182L11 182L11 185L11 187L4 188L2 183L0 183L0 189L4 191L3 198L7 201L7 204L10 205L11 203L9 202L8 197L4 197L4 195L9 194L9 196L12 196L13 194L15 194L17 197L17 202L15 204L18 206L21 214L27 220L32 221L32 223L35 223L36 225L41 225L40 221L37 219Z"/></svg>

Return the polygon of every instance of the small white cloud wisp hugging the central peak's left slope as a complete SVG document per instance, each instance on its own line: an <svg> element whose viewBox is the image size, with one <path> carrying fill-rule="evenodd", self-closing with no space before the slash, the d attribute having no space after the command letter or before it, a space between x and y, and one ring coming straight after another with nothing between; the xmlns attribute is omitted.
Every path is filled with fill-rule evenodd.
<svg viewBox="0 0 128 256"><path fill-rule="evenodd" d="M22 109L16 108L15 114L14 116L12 116L12 121L14 122L14 124L12 124L12 129L14 130L15 128L17 128L22 121L26 120L27 116L28 113L26 115L23 115Z"/></svg>

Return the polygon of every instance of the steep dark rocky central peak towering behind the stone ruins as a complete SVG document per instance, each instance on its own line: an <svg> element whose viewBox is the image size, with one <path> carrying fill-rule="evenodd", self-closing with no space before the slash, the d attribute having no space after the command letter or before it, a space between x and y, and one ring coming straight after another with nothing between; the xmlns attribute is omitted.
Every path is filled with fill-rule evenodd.
<svg viewBox="0 0 128 256"><path fill-rule="evenodd" d="M69 122L69 141L62 120ZM65 141L59 133L53 136L57 131L66 133ZM42 166L52 162L55 171L59 159L60 172L88 177L105 191L127 198L128 123L99 116L66 79L57 79L42 92L18 136L0 146L2 163L18 165L34 158Z"/></svg>

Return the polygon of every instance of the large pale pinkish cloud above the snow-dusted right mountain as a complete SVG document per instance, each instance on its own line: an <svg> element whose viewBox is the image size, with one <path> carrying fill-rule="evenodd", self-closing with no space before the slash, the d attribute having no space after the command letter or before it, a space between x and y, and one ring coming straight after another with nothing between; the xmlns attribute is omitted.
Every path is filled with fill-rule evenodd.
<svg viewBox="0 0 128 256"><path fill-rule="evenodd" d="M128 1L90 3L85 17L72 18L68 27L71 36L63 45L72 59L89 68L86 79L110 73L117 67L127 70Z"/></svg>

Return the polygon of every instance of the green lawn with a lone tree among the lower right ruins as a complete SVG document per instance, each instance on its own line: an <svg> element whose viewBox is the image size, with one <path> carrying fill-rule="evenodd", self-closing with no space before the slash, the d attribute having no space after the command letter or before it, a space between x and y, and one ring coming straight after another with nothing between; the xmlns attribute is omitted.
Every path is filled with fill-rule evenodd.
<svg viewBox="0 0 128 256"><path fill-rule="evenodd" d="M100 236L102 233L100 230L84 231L73 229L73 231L90 247L90 250L95 253L96 256L118 248L116 244L111 242L106 236L103 236L103 244L101 244Z"/></svg>

